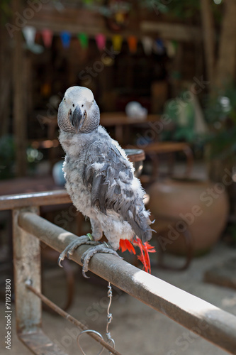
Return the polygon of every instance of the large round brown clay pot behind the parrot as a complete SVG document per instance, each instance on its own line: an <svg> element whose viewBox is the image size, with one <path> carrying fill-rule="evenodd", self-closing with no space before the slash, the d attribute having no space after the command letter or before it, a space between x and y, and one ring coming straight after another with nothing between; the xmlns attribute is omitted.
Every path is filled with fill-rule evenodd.
<svg viewBox="0 0 236 355"><path fill-rule="evenodd" d="M220 238L227 223L229 202L225 185L201 180L164 180L154 182L147 191L148 208L158 220L170 219L164 234L168 251L184 255L183 231L187 228L193 240L193 253L206 253ZM158 228L157 228L158 230ZM158 234L157 234L158 238ZM165 240L165 239L163 239Z"/></svg>

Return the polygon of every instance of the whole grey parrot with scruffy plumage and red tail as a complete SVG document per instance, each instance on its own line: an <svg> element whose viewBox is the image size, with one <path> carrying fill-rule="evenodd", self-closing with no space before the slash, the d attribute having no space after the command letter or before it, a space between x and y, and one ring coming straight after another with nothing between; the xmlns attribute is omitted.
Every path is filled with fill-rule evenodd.
<svg viewBox="0 0 236 355"><path fill-rule="evenodd" d="M111 246L108 249L99 244L84 253L83 275L96 252L116 253L120 246L131 250L131 241L145 246L144 253L150 252L146 241L152 237L152 222L143 203L144 190L125 151L99 126L99 107L91 90L69 87L60 103L57 121L66 153L63 171L67 192L78 211L89 217L94 241L99 241L104 233ZM82 236L67 246L59 263L79 245L92 244L89 239L89 235Z"/></svg>

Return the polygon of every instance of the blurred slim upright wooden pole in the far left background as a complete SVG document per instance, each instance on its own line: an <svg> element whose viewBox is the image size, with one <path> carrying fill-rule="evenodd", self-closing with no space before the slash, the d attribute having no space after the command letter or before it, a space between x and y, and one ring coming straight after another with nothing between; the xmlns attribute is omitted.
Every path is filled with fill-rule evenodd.
<svg viewBox="0 0 236 355"><path fill-rule="evenodd" d="M21 13L21 0L13 0L13 13ZM23 84L23 38L20 31L13 35L13 133L16 144L16 175L26 175L26 102Z"/></svg>

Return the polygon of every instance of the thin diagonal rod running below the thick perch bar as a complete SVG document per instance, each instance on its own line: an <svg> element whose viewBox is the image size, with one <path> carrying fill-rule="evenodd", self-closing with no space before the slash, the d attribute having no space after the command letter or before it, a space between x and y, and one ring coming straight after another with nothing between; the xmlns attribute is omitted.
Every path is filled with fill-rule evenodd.
<svg viewBox="0 0 236 355"><path fill-rule="evenodd" d="M82 322L79 322L79 320L77 320L76 318L72 317L72 315L69 315L69 313L65 312L64 310L62 310L62 308L58 307L57 305L55 305L54 302L52 302L51 300L49 300L47 297L45 297L45 295L43 295L42 293L38 292L37 290L35 290L35 288L33 288L30 285L26 284L26 288L28 288L30 291L32 291L35 295L37 295L38 297L40 297L40 300L42 300L46 305L48 305L52 310L54 310L55 312L57 312L58 315L61 315L64 319L68 320L69 322L71 322L72 324L76 325L77 327L79 327L79 329L81 329L82 331L84 330L89 330L89 328L87 328ZM112 354L114 355L121 355L116 349L113 349L113 347L111 345L109 345L108 343L106 343L103 339L101 339L101 337L99 337L99 335L97 335L96 333L90 333L88 332L88 335L90 335L90 337L94 338L96 340L96 342L99 342L101 345L103 345L106 349L108 349L109 351L111 351Z"/></svg>

